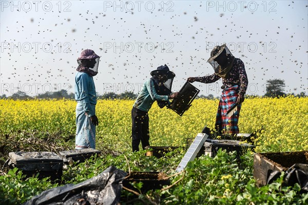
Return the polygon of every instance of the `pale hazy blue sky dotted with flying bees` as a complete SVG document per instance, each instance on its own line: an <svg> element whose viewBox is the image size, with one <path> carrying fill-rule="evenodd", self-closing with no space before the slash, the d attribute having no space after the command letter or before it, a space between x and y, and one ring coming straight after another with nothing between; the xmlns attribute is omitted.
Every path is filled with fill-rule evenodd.
<svg viewBox="0 0 308 205"><path fill-rule="evenodd" d="M213 74L206 63L226 43L245 64L247 94L264 95L266 80L285 92L308 87L307 1L0 1L1 94L74 92L76 58L101 56L99 94L138 93L160 65L176 73L172 91L189 76ZM200 94L217 83L194 83Z"/></svg>

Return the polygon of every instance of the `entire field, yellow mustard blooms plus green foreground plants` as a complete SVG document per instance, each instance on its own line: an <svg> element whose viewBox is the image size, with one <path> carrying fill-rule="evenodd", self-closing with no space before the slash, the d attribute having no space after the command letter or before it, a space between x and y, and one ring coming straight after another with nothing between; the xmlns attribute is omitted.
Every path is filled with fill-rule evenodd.
<svg viewBox="0 0 308 205"><path fill-rule="evenodd" d="M204 126L214 129L219 100L196 99L182 117L153 104L149 112L150 145L180 147L162 158L148 157L146 151L131 152L133 103L98 100L96 149L102 155L69 166L63 171L62 185L80 183L115 166L126 172L164 172L173 176L170 183L175 185L150 190L133 200L131 192L122 190L121 204L307 204L308 194L301 193L298 183L282 186L283 174L270 185L256 187L251 150L240 157L240 166L236 152L218 150L216 157L196 157L184 173L173 175L185 154L186 139L194 138ZM75 106L75 101L65 99L0 99L0 167L9 152L73 150ZM308 150L308 98L247 98L242 104L239 128L241 133L257 133L255 152ZM25 179L16 168L0 171L0 201L4 204L22 204L57 186L47 178ZM140 189L143 185L133 186Z"/></svg>

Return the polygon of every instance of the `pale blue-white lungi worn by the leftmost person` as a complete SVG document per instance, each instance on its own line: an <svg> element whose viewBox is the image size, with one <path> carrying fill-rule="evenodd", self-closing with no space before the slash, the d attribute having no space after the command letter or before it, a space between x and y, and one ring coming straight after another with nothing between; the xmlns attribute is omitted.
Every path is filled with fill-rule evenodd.
<svg viewBox="0 0 308 205"><path fill-rule="evenodd" d="M95 105L91 105L95 112ZM95 149L95 126L86 114L82 103L76 105L76 139L75 149Z"/></svg>

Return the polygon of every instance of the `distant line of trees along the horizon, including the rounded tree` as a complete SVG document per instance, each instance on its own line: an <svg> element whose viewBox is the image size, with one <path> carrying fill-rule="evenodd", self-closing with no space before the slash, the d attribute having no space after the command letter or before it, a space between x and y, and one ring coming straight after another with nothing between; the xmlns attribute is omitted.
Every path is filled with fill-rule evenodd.
<svg viewBox="0 0 308 205"><path fill-rule="evenodd" d="M287 95L295 95L294 93L287 94L284 93L285 83L282 79L269 79L266 81L266 93L265 97L284 97ZM133 93L132 91L125 91L124 93L116 94L114 92L104 93L100 95L97 93L98 99L136 99L138 94ZM305 97L307 96L304 92L295 95L297 97ZM254 96L253 96L254 97ZM258 97L258 96L255 96ZM12 96L7 97L5 94L1 95L0 98L10 98L10 99L74 99L74 93L68 93L66 90L56 91L56 92L46 92L43 94L38 94L34 97L27 95L27 93L22 91L17 91L12 94ZM214 99L219 97L214 97L214 95L209 94L198 95L197 98L205 98L205 99Z"/></svg>

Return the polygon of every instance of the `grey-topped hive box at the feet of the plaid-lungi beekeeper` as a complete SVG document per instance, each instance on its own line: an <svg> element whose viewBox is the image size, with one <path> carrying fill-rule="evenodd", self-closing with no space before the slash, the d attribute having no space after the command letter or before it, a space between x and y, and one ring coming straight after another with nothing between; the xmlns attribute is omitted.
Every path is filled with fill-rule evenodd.
<svg viewBox="0 0 308 205"><path fill-rule="evenodd" d="M203 152L205 155L215 157L219 149L226 150L227 152L237 151L237 155L240 156L242 152L248 148L254 149L255 146L243 143L238 140L229 139L206 139L204 142Z"/></svg>

